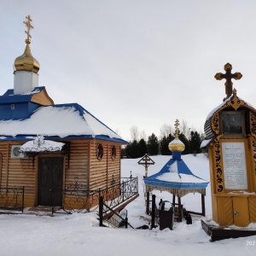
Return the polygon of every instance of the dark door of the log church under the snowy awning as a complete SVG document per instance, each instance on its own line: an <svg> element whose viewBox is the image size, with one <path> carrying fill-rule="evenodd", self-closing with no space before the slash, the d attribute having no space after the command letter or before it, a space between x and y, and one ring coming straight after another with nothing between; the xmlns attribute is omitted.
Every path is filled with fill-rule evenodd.
<svg viewBox="0 0 256 256"><path fill-rule="evenodd" d="M63 158L38 158L38 206L62 206Z"/></svg>

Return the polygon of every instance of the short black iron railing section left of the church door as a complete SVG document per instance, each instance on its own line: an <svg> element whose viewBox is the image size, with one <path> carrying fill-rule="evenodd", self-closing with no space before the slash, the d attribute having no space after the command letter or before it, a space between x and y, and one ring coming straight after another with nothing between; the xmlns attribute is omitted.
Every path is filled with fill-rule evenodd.
<svg viewBox="0 0 256 256"><path fill-rule="evenodd" d="M23 212L24 190L24 187L0 188L0 209Z"/></svg>

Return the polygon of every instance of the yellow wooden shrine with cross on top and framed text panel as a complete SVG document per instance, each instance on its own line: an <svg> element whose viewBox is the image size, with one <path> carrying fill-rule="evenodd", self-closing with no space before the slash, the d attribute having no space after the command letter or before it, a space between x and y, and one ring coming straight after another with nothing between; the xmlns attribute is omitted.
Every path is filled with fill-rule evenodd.
<svg viewBox="0 0 256 256"><path fill-rule="evenodd" d="M256 109L237 96L231 79L242 75L231 70L227 63L215 75L226 80L226 96L207 116L201 147L209 155L213 221L247 227L256 222Z"/></svg>

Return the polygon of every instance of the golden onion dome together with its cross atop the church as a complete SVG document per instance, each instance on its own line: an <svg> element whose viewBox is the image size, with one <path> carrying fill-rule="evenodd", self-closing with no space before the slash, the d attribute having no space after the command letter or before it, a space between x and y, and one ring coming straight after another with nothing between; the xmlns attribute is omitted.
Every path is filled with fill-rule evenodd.
<svg viewBox="0 0 256 256"><path fill-rule="evenodd" d="M29 71L32 73L38 73L40 68L39 62L32 56L31 49L29 47L29 44L31 43L30 38L32 38L30 30L34 28L31 24L31 21L32 19L30 18L30 15L27 15L26 21L23 22L27 27L27 38L25 40L26 49L23 55L16 58L14 65L15 71Z"/></svg>

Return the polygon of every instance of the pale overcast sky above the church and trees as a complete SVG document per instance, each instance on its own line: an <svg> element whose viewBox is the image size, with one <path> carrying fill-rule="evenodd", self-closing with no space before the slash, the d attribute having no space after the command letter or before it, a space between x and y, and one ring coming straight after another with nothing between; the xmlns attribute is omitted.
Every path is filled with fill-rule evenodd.
<svg viewBox="0 0 256 256"><path fill-rule="evenodd" d="M78 102L129 140L185 120L203 131L225 96L214 79L230 62L237 96L256 107L256 1L0 1L0 95L25 49L55 104ZM174 126L173 126L174 127Z"/></svg>

